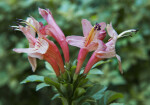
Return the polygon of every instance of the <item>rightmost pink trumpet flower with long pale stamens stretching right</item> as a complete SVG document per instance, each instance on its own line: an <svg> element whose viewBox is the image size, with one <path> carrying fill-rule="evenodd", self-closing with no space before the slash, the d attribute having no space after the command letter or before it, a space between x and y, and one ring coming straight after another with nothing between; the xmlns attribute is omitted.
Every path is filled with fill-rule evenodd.
<svg viewBox="0 0 150 105"><path fill-rule="evenodd" d="M89 59L85 67L84 74L87 74L96 62L103 60L105 58L112 58L112 57L116 57L118 59L119 70L121 73L123 73L121 66L121 58L119 55L116 54L115 50L116 41L118 38L126 36L125 35L126 33L136 32L137 30L130 29L118 35L117 32L113 29L112 24L108 24L106 28L111 38L106 44L104 44L102 41L99 40L99 46Z"/></svg>

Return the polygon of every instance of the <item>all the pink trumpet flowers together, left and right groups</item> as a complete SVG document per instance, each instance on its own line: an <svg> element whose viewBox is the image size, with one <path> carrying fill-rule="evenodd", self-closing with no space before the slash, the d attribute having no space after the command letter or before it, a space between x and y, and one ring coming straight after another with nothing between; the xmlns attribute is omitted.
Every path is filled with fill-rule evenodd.
<svg viewBox="0 0 150 105"><path fill-rule="evenodd" d="M122 73L121 58L116 54L115 45L117 39L126 36L126 33L136 32L135 29L130 29L118 34L112 27L112 24L105 22L96 23L94 26L91 23L83 19L83 37L82 36L68 36L65 38L64 33L56 24L52 13L47 9L39 8L39 14L47 21L47 25L43 25L33 17L28 17L26 21L20 21L19 26L15 27L15 30L22 31L29 41L29 48L16 48L13 51L17 53L27 53L28 60L32 66L32 70L35 71L37 67L36 58L44 59L51 64L57 76L65 72L63 58L59 52L58 47L49 40L47 36L53 37L60 45L65 63L69 63L69 48L68 44L80 48L78 54L78 62L75 70L76 74L80 73L83 62L88 52L93 51L91 58L89 59L83 74L88 74L91 67L98 61L116 57L119 63L119 70ZM25 24L25 26L21 25ZM108 42L104 43L103 39L106 34L110 36ZM37 34L37 37L36 37Z"/></svg>

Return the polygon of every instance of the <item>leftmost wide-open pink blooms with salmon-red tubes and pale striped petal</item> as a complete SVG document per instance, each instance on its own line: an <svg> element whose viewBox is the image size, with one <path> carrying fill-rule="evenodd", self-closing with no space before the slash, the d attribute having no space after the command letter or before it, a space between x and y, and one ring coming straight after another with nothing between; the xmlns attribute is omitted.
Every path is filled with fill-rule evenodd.
<svg viewBox="0 0 150 105"><path fill-rule="evenodd" d="M28 54L28 59L33 71L35 71L37 66L36 58L39 58L48 61L55 70L57 76L60 74L59 69L61 72L64 72L65 69L63 60L57 46L39 31L42 27L42 24L36 21L34 18L27 18L25 22L21 23L25 23L27 26L23 27L19 25L17 30L20 30L24 33L29 41L29 48L18 48L13 50L17 53ZM36 33L38 34L38 38L35 38Z"/></svg>

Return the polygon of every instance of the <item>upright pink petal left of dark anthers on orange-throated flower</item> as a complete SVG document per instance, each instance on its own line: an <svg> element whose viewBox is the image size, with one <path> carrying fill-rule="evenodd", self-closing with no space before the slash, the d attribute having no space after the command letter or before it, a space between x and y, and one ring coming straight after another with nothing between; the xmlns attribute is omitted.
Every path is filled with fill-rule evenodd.
<svg viewBox="0 0 150 105"><path fill-rule="evenodd" d="M85 37L88 36L88 34L89 34L89 32L91 31L92 27L93 27L93 26L91 25L91 23L90 23L88 20L82 19L83 35L84 35Z"/></svg>

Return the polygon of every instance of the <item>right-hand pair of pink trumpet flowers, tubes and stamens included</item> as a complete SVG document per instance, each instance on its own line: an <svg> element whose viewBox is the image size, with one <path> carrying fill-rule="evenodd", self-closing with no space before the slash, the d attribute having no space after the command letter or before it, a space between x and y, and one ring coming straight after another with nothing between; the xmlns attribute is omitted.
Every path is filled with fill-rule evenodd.
<svg viewBox="0 0 150 105"><path fill-rule="evenodd" d="M80 48L78 54L76 74L80 72L82 64L89 51L94 51L94 53L92 54L84 69L84 74L87 74L92 68L92 66L98 61L112 57L116 57L118 59L119 70L121 73L123 73L121 67L121 58L119 55L116 54L115 50L116 41L117 39L126 36L126 33L136 32L137 30L130 29L118 35L117 32L113 29L111 23L106 25L106 23L102 22L96 23L96 25L92 26L91 23L86 19L82 20L82 28L84 37L67 37L68 44ZM110 36L110 39L106 43L103 42L103 39L106 37L105 28L107 30L108 35Z"/></svg>

